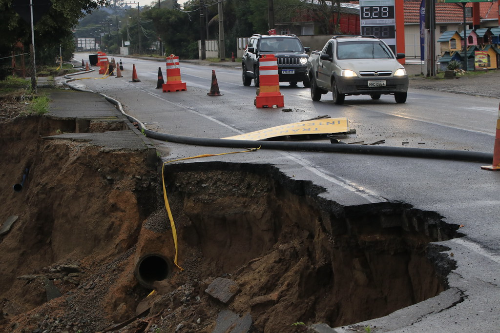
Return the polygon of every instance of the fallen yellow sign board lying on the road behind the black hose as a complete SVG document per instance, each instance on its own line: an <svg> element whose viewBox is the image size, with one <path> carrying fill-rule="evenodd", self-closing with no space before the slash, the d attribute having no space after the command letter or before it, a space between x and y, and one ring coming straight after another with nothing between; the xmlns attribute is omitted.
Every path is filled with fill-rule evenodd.
<svg viewBox="0 0 500 333"><path fill-rule="evenodd" d="M329 134L345 133L348 131L349 121L347 118L321 118L275 126L246 134L229 136L222 139L255 141L284 135Z"/></svg>

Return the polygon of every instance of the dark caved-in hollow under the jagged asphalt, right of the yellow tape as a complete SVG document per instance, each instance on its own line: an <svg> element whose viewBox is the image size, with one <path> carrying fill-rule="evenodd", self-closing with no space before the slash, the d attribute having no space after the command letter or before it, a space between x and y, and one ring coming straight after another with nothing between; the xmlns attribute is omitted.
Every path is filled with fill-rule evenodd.
<svg viewBox="0 0 500 333"><path fill-rule="evenodd" d="M455 268L430 243L458 226L409 204L343 207L265 164L165 165L165 181L180 242L238 285L232 309L264 332L387 315L447 289Z"/></svg>

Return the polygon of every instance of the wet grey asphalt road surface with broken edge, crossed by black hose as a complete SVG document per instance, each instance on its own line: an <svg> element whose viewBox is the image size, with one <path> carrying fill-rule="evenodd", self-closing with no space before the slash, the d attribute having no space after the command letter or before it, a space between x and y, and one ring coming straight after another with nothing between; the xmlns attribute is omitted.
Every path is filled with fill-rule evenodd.
<svg viewBox="0 0 500 333"><path fill-rule="evenodd" d="M85 55L76 56L80 57ZM158 67L166 79L163 61L122 61L123 78L97 79L100 75L93 72L87 75L92 78L72 84L119 100L125 112L163 133L221 138L328 114L348 117L351 128L356 129L346 142L384 139L384 145L394 147L493 149L498 114L498 100L493 98L410 89L405 104L396 104L390 95L377 101L347 96L345 105L337 106L329 94L312 102L309 89L300 83L297 87L282 84L285 108L291 109L283 112L281 108L255 108L255 88L241 84L240 68L181 63L187 91L163 93L156 89ZM132 64L140 82L129 82ZM206 96L212 70L223 96ZM234 150L154 143L165 160ZM390 332L497 331L500 173L481 170L484 163L269 150L208 157L204 162L217 160L276 165L290 178L324 187L321 196L344 206L405 202L437 212L447 223L464 225L460 231L465 237L442 242L458 265L448 276L449 290L362 325Z"/></svg>

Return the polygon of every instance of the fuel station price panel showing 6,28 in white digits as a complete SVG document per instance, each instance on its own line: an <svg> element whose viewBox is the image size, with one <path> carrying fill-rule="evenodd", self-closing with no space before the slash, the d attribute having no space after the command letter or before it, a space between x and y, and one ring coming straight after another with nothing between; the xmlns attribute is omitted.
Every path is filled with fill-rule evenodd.
<svg viewBox="0 0 500 333"><path fill-rule="evenodd" d="M359 0L361 34L383 39L396 52L394 0Z"/></svg>

